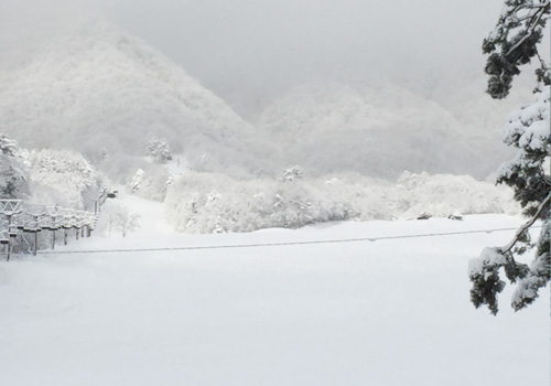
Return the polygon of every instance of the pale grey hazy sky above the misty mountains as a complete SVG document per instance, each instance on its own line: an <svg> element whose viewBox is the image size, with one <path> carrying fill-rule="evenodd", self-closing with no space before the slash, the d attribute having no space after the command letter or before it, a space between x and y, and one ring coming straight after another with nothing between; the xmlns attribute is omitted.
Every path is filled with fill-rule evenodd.
<svg viewBox="0 0 551 386"><path fill-rule="evenodd" d="M2 0L0 40L17 45L104 13L220 96L252 106L316 77L424 84L482 74L482 39L501 7L503 0Z"/></svg>

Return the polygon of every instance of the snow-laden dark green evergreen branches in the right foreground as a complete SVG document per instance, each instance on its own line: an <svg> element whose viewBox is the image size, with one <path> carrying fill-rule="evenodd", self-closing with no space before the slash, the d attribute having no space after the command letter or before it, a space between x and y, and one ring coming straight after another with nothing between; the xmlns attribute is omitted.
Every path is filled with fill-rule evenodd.
<svg viewBox="0 0 551 386"><path fill-rule="evenodd" d="M550 280L550 186L549 156L550 132L550 77L549 63L538 54L545 23L550 14L550 1L507 0L496 29L484 41L483 51L490 54L486 65L488 94L504 98L509 93L512 77L519 66L534 56L540 61L537 71L539 86L536 101L510 115L504 129L504 141L516 148L516 157L505 163L498 182L512 187L515 199L530 219L518 229L512 240L503 247L486 248L480 257L469 262L473 281L471 300L476 307L486 304L491 313L498 312L497 294L505 281L500 268L510 282L517 283L511 305L520 310L538 298L538 290ZM528 230L537 222L542 230L536 244ZM536 257L528 265L519 256L536 247Z"/></svg>

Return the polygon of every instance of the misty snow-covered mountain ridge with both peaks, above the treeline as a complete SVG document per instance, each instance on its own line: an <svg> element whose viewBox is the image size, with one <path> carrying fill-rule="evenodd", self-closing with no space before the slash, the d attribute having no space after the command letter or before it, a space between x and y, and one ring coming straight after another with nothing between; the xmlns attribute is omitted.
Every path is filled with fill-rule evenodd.
<svg viewBox="0 0 551 386"><path fill-rule="evenodd" d="M472 84L437 103L382 79L325 79L292 88L247 122L106 20L57 36L22 63L3 75L2 130L24 147L74 148L96 163L106 154L110 162L143 156L152 137L166 138L193 170L241 175L300 164L315 175L396 178L410 170L485 178L506 152L499 131L507 110L483 90L473 105Z"/></svg>

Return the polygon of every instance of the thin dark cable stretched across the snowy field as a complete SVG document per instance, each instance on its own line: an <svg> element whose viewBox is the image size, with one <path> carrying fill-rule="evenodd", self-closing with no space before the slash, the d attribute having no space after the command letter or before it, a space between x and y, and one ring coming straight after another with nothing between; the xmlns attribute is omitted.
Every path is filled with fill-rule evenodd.
<svg viewBox="0 0 551 386"><path fill-rule="evenodd" d="M532 228L541 228L541 226L532 226ZM283 242L283 243L258 243L258 244L234 244L234 245L204 245L204 246L185 246L185 247L156 247L156 248L129 248L129 249L84 249L84 250L45 250L43 255L58 254L121 254L121 253L141 253L141 251L171 251L171 250L205 250L205 249L235 249L235 248L263 248L263 247L285 247L295 245L316 245L316 244L342 244L342 243L361 243L361 242L379 242L389 239L407 239L422 237L443 237L469 234L490 234L494 232L517 230L518 228L494 228L494 229L476 229L476 230L460 230L460 232L443 232L415 235L398 235L398 236L377 236L377 237L360 237L360 238L342 238L327 240L307 240L307 242Z"/></svg>

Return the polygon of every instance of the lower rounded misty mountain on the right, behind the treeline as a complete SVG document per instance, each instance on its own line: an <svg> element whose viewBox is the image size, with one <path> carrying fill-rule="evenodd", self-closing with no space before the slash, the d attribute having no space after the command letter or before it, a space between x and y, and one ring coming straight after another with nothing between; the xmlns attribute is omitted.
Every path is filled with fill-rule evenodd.
<svg viewBox="0 0 551 386"><path fill-rule="evenodd" d="M480 94L476 104L451 95L446 100L464 104L451 108L386 81L307 84L276 100L258 126L289 144L288 162L314 173L389 178L409 170L485 178L507 159L500 142L506 109L483 89L460 92L467 90Z"/></svg>

